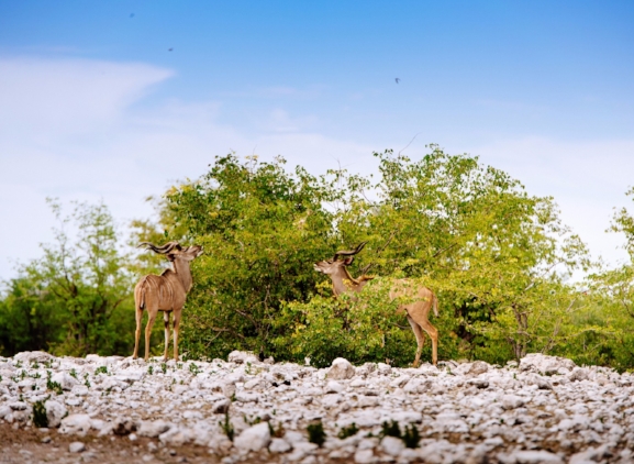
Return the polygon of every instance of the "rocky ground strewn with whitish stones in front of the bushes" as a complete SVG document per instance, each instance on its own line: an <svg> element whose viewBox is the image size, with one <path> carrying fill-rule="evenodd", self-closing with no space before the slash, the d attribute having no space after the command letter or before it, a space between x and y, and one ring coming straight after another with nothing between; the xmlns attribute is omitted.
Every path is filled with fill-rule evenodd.
<svg viewBox="0 0 634 464"><path fill-rule="evenodd" d="M0 357L0 463L634 462L634 375L440 364Z"/></svg>

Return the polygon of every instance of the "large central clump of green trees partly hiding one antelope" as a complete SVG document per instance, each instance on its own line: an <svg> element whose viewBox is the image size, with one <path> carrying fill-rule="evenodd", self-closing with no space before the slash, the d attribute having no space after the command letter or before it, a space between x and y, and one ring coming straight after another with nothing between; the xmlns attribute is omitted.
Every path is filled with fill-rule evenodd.
<svg viewBox="0 0 634 464"><path fill-rule="evenodd" d="M137 241L204 246L192 264L185 350L207 358L266 350L315 366L337 356L407 365L415 340L397 314L403 301L387 296L402 277L438 296L432 323L441 358L504 363L561 350L582 310L566 284L588 265L582 243L561 225L552 198L529 196L476 157L431 148L418 162L375 154L376 181L345 170L289 174L281 158L227 155L200 179L173 187L159 223L137 224ZM359 298L334 300L312 264L362 241L351 273L370 265L381 278Z"/></svg>

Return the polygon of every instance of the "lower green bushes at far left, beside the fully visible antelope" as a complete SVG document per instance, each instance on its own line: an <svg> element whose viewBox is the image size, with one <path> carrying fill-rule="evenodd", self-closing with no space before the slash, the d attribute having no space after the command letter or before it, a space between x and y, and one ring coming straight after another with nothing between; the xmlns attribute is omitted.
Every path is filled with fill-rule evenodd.
<svg viewBox="0 0 634 464"><path fill-rule="evenodd" d="M77 203L69 216L48 200L59 223L44 256L22 265L0 300L0 350L56 354L129 354L132 275L118 250L104 205Z"/></svg>

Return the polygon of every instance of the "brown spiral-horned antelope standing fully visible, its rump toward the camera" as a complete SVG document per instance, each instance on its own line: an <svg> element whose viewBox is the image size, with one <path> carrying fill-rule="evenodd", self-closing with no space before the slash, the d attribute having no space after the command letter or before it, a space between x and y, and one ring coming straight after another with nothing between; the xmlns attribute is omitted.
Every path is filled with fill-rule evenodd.
<svg viewBox="0 0 634 464"><path fill-rule="evenodd" d="M202 254L199 245L183 248L178 242L168 242L163 246L156 246L148 242L143 242L138 246L145 246L155 253L165 255L174 263L174 270L165 269L162 275L147 275L138 280L134 287L134 306L136 308L136 332L134 339L134 354L138 355L138 338L141 336L141 321L143 310L147 310L147 325L145 325L145 361L149 357L149 333L154 325L154 320L158 311L163 311L165 321L165 353L167 361L167 346L169 345L169 313L174 312L174 358L178 361L178 327L180 314L187 292L191 289L193 280L189 264Z"/></svg>

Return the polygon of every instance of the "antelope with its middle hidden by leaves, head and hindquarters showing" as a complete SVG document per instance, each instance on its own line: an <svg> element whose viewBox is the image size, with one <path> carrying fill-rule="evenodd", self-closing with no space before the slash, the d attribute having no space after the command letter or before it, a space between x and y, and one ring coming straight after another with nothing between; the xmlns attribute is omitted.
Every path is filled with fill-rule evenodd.
<svg viewBox="0 0 634 464"><path fill-rule="evenodd" d="M320 261L314 264L314 269L319 273L326 274L333 283L333 292L335 297L345 291L359 292L371 277L362 275L358 278L353 278L348 273L346 266L349 266L354 259L354 255L363 250L366 242L359 244L353 251L336 252L333 259ZM338 256L346 256L343 259L337 259ZM434 309L434 314L438 317L438 299L432 290L427 287L413 284L408 279L397 279L393 281L389 292L390 300L399 297L415 299L415 301L399 306L398 312L404 311L408 316L408 322L412 327L414 335L416 336L416 357L414 360L414 367L419 366L421 361L421 353L425 344L423 330L427 332L432 339L432 362L436 365L438 361L438 330L430 323L430 310Z"/></svg>

